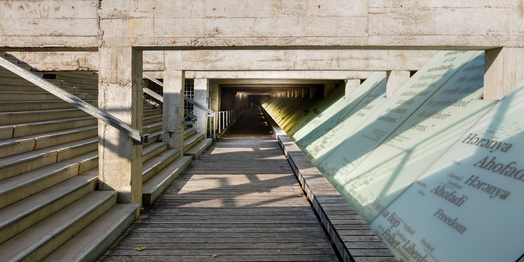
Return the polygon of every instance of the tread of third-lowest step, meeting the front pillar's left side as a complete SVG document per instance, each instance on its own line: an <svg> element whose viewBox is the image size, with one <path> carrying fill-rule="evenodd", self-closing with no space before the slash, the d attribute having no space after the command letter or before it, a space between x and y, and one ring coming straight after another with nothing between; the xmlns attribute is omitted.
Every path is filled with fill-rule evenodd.
<svg viewBox="0 0 524 262"><path fill-rule="evenodd" d="M78 188L84 187L95 180L98 180L97 176L74 176L27 198L5 206L0 209L0 230L64 198Z"/></svg>

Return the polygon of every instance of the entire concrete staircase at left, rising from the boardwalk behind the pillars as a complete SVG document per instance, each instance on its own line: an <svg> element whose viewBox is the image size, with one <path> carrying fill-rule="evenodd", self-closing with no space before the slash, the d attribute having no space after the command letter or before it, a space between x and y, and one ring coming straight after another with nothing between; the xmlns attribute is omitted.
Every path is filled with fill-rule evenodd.
<svg viewBox="0 0 524 262"><path fill-rule="evenodd" d="M97 105L96 73L34 73ZM143 109L143 133L151 134L143 145L143 203L150 204L207 146L203 134L185 128L184 156L167 149L161 109ZM0 261L94 261L136 219L138 204L97 191L97 122L0 67Z"/></svg>

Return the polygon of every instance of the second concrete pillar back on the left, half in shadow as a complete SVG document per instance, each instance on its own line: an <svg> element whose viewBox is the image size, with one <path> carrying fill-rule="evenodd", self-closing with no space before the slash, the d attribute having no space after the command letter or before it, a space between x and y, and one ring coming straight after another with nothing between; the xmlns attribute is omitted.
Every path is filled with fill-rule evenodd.
<svg viewBox="0 0 524 262"><path fill-rule="evenodd" d="M183 156L184 72L176 70L180 68L177 52L166 52L164 59L162 141L167 143L168 149L179 149Z"/></svg>

